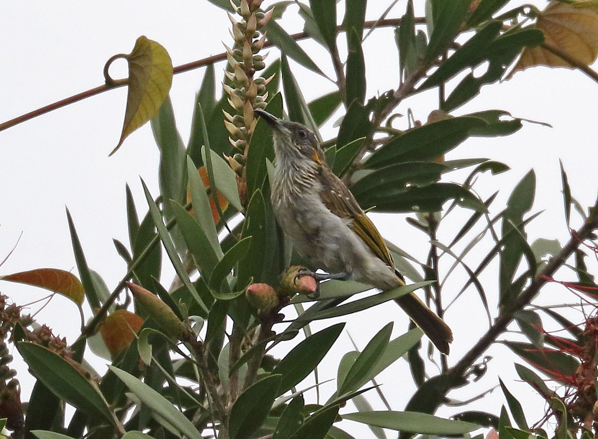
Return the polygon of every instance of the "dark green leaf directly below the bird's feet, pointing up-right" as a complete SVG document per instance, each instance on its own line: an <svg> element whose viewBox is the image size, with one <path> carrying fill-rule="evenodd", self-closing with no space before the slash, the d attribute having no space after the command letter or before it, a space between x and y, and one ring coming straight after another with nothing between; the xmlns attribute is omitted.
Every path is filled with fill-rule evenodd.
<svg viewBox="0 0 598 439"><path fill-rule="evenodd" d="M285 358L274 368L273 374L280 375L280 388L277 395L282 395L307 377L337 340L344 323L322 329L291 349Z"/></svg>

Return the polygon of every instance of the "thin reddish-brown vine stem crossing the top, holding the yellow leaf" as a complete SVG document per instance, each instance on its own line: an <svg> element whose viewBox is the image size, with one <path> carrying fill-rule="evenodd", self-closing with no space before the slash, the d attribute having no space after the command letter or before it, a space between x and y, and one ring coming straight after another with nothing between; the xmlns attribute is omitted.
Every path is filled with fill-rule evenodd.
<svg viewBox="0 0 598 439"><path fill-rule="evenodd" d="M416 23L423 23L423 19L417 18ZM380 20L376 22L375 20L367 21L364 23L364 28L373 28L376 27L388 27L388 26L398 26L401 23L401 19L387 19L387 20ZM344 31L343 26L337 26L339 31ZM310 38L305 32L298 32L297 34L292 34L291 37L295 41L306 40ZM268 41L264 44L264 47L272 47L273 44ZM193 62L188 62L186 64L182 64L173 68L173 74L179 74L183 72L188 72L193 69L205 67L207 65L224 61L226 59L226 52L218 53L218 55L208 56L206 58L202 58ZM34 117L41 116L42 114L49 113L50 111L57 110L58 108L66 107L66 105L74 104L75 102L81 101L86 98L90 98L91 96L99 95L100 93L106 92L108 90L112 90L118 87L123 87L129 84L127 79L117 79L114 80L112 84L103 84L101 86L94 87L93 89L86 90L85 92L77 93L77 95L69 96L65 99L60 99L60 101L53 102L53 104L45 105L45 107L38 108L37 110L30 111L29 113L22 114L21 116L17 116L14 119L7 120L6 122L0 123L0 131L4 131L7 128L11 128L19 123L26 122Z"/></svg>

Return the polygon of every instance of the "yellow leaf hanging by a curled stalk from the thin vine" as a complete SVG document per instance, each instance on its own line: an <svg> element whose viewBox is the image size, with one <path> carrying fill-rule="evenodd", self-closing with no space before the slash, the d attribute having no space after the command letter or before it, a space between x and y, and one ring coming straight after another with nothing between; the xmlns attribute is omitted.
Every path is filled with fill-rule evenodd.
<svg viewBox="0 0 598 439"><path fill-rule="evenodd" d="M172 60L164 47L142 35L135 42L133 52L124 57L129 63L127 107L124 113L123 132L114 154L129 134L156 114L172 85Z"/></svg>

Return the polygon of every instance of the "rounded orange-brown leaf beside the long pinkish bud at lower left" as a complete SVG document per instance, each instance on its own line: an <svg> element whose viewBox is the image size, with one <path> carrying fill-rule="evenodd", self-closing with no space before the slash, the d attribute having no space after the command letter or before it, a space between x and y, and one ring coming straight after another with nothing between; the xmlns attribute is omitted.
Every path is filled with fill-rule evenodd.
<svg viewBox="0 0 598 439"><path fill-rule="evenodd" d="M144 319L127 310L116 310L102 322L100 334L108 351L115 358L129 347Z"/></svg>

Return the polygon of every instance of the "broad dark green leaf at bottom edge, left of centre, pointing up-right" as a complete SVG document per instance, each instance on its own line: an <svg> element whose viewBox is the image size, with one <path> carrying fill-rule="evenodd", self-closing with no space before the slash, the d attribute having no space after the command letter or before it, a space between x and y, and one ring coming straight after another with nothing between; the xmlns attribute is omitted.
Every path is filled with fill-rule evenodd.
<svg viewBox="0 0 598 439"><path fill-rule="evenodd" d="M246 439L264 423L280 385L280 376L271 375L241 393L230 410L228 431L231 439Z"/></svg>

